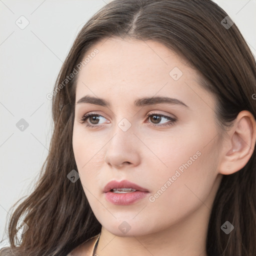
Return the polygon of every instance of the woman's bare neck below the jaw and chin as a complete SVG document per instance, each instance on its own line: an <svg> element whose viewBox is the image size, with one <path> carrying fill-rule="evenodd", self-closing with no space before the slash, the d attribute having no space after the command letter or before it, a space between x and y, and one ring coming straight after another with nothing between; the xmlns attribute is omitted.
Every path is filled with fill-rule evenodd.
<svg viewBox="0 0 256 256"><path fill-rule="evenodd" d="M210 208L202 204L178 223L144 235L136 235L134 231L131 235L128 231L125 236L118 236L102 226L95 252L100 256L207 256L209 215Z"/></svg>

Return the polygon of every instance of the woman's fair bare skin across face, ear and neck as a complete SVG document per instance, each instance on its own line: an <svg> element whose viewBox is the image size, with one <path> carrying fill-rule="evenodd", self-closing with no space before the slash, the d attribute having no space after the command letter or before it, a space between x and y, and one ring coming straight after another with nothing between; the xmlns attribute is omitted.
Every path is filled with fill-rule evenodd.
<svg viewBox="0 0 256 256"><path fill-rule="evenodd" d="M242 111L229 130L220 130L214 120L214 95L199 85L195 69L161 43L112 37L94 44L88 53L94 48L98 54L79 71L75 101L91 95L111 106L75 104L73 151L84 193L102 225L96 253L205 256L209 214L222 174L242 168L254 149L253 116ZM174 67L183 73L177 80L169 75ZM152 96L176 98L188 107L133 105L137 98ZM80 121L89 112L103 115L99 124L92 118ZM176 121L153 127L150 123L170 121L146 118L147 113ZM131 124L126 131L118 126L123 118ZM197 151L200 156L149 201ZM103 192L113 179L145 187L148 196L114 205ZM130 226L125 234L118 228L123 221Z"/></svg>

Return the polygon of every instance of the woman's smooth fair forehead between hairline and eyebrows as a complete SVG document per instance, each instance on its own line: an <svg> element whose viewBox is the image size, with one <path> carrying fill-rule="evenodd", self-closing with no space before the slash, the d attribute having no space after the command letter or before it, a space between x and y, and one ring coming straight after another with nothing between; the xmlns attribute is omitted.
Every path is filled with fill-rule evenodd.
<svg viewBox="0 0 256 256"><path fill-rule="evenodd" d="M90 56L95 49L98 53ZM156 41L108 38L92 45L85 57L89 61L78 73L76 101L86 94L108 98L110 102L116 97L128 100L153 95L182 95L191 101L196 90L205 93L197 84L198 72ZM178 79L172 77L173 72ZM195 91L189 89L191 86Z"/></svg>

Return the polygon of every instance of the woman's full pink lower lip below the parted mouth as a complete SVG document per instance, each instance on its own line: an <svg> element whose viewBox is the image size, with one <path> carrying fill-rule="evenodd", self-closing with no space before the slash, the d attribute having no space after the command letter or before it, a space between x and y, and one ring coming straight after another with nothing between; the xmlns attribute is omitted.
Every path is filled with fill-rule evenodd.
<svg viewBox="0 0 256 256"><path fill-rule="evenodd" d="M118 205L128 205L131 203L134 203L135 201L144 198L147 195L148 192L143 191L134 191L134 192L128 192L128 193L114 193L111 191L108 191L105 193L106 199L113 203Z"/></svg>

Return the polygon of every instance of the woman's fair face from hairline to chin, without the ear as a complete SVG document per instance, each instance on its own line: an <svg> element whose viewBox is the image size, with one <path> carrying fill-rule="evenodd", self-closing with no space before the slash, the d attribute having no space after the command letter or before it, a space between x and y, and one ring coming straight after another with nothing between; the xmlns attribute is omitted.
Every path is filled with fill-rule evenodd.
<svg viewBox="0 0 256 256"><path fill-rule="evenodd" d="M219 184L221 140L215 99L199 85L199 73L155 41L110 38L86 56L94 49L98 53L77 74L72 142L96 218L111 233L129 236L173 226L196 212L205 217ZM84 96L109 105L80 100ZM93 115L81 121L85 114ZM148 192L115 204L103 191L111 180ZM112 194L127 199L131 193ZM130 228L127 234L122 226Z"/></svg>

